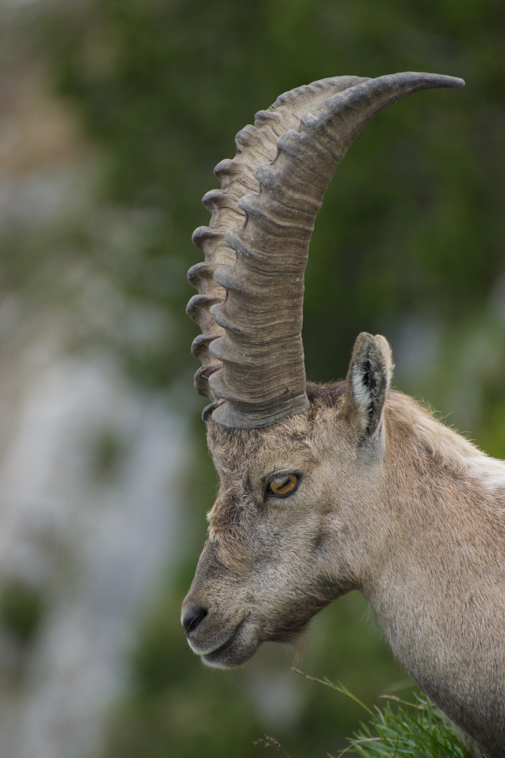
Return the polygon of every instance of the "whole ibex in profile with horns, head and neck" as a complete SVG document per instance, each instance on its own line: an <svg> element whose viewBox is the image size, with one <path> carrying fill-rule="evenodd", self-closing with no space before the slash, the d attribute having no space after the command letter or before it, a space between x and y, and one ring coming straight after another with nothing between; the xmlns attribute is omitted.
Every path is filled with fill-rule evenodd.
<svg viewBox="0 0 505 758"><path fill-rule="evenodd" d="M182 625L209 666L238 666L359 590L419 687L503 758L505 464L390 388L384 337L360 334L346 380L326 385L307 383L301 343L310 234L338 161L386 105L460 86L413 73L303 86L217 165L188 312L220 492Z"/></svg>

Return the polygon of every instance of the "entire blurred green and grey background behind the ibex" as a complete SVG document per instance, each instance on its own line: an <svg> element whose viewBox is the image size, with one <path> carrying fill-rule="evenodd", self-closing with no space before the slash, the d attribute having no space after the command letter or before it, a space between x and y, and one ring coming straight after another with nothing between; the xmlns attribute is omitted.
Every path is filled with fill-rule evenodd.
<svg viewBox="0 0 505 758"><path fill-rule="evenodd" d="M505 457L501 0L0 3L0 758L335 753L363 716L265 646L204 669L179 606L216 477L192 390L192 230L233 136L287 89L429 70L379 114L307 270L307 374L386 334L397 387ZM407 678L366 603L298 666L366 703Z"/></svg>

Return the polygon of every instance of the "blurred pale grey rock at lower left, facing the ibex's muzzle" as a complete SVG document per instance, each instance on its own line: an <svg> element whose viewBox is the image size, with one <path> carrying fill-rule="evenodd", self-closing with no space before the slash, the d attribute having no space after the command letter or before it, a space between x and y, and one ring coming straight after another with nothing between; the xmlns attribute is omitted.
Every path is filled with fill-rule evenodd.
<svg viewBox="0 0 505 758"><path fill-rule="evenodd" d="M31 378L0 466L0 581L32 587L42 617L24 646L0 636L0 753L87 758L176 552L185 435L164 399L111 366L61 358ZM123 447L97 475L104 434Z"/></svg>

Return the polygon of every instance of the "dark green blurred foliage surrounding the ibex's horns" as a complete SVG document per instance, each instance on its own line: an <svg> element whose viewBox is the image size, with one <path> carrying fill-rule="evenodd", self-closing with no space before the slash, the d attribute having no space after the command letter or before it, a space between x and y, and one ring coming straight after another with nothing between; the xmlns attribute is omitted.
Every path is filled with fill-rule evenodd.
<svg viewBox="0 0 505 758"><path fill-rule="evenodd" d="M363 327L394 341L412 313L454 324L482 309L503 273L504 15L475 0L100 0L53 18L58 89L107 148L104 196L151 213L142 268L115 274L176 320L158 381L189 362L181 277L200 255L188 240L214 164L255 111L329 75L429 69L467 86L389 108L338 169L307 270L308 375L344 374Z"/></svg>

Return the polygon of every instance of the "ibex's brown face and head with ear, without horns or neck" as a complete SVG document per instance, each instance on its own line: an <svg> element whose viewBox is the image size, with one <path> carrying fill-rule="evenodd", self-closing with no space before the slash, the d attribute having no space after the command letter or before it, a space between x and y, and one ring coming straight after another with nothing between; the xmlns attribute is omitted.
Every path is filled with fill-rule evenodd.
<svg viewBox="0 0 505 758"><path fill-rule="evenodd" d="M386 340L361 334L347 389L307 384L307 411L263 428L207 421L220 493L183 624L210 666L238 666L263 641L296 643L316 612L360 587L353 534L360 512L379 529L390 376Z"/></svg>

